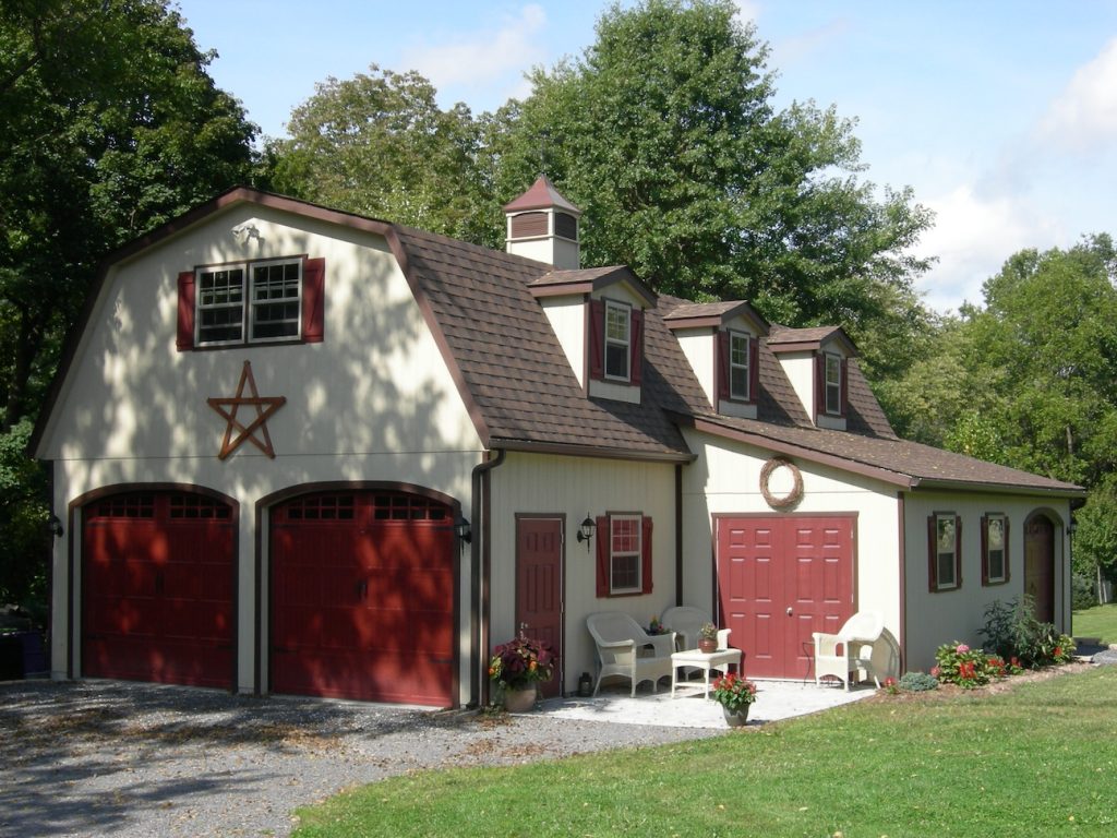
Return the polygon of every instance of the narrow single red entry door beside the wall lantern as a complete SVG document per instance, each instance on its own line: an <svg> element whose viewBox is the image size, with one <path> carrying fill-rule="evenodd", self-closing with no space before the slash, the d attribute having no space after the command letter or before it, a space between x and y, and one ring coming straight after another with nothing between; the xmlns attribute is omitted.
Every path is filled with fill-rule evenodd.
<svg viewBox="0 0 1117 838"><path fill-rule="evenodd" d="M555 677L543 695L562 694L562 518L516 520L516 626L545 640L558 655Z"/></svg>

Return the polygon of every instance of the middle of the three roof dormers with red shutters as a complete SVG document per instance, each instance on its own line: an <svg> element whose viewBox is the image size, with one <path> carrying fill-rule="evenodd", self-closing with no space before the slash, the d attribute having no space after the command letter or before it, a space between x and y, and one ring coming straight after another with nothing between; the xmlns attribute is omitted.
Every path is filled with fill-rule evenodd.
<svg viewBox="0 0 1117 838"><path fill-rule="evenodd" d="M767 322L742 301L681 303L663 316L706 398L723 416L755 419L760 341Z"/></svg>

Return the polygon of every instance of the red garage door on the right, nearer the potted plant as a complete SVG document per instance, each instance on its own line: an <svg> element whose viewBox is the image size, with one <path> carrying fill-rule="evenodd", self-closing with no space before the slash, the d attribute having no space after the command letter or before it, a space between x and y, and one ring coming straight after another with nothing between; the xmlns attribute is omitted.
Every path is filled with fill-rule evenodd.
<svg viewBox="0 0 1117 838"><path fill-rule="evenodd" d="M398 492L307 495L271 514L271 689L450 706L450 507Z"/></svg>

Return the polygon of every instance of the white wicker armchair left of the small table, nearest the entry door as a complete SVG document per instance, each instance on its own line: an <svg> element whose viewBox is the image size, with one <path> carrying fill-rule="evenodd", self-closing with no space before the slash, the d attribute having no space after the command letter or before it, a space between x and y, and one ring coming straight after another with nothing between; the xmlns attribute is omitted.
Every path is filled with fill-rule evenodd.
<svg viewBox="0 0 1117 838"><path fill-rule="evenodd" d="M637 684L643 680L651 682L651 692L659 692L659 679L671 674L674 631L649 635L627 613L615 611L590 615L585 618L585 627L598 647L594 695L601 687L601 679L610 675L628 678L632 683L632 696L636 696Z"/></svg>

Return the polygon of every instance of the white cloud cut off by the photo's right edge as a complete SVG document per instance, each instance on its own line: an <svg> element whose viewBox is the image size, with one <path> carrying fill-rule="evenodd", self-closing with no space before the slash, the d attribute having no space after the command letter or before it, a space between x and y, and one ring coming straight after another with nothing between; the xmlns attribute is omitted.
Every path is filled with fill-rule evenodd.
<svg viewBox="0 0 1117 838"><path fill-rule="evenodd" d="M1039 139L1071 152L1117 141L1117 38L1079 67L1040 121Z"/></svg>

